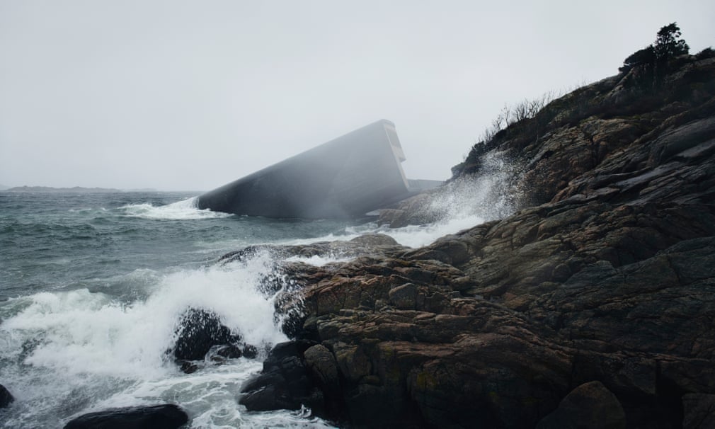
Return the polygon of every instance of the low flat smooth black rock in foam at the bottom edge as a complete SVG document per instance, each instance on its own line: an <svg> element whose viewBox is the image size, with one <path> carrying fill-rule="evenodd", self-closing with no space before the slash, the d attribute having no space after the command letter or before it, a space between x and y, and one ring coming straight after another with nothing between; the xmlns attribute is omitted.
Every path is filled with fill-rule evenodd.
<svg viewBox="0 0 715 429"><path fill-rule="evenodd" d="M189 416L177 405L114 408L80 415L64 429L175 429L187 423Z"/></svg>

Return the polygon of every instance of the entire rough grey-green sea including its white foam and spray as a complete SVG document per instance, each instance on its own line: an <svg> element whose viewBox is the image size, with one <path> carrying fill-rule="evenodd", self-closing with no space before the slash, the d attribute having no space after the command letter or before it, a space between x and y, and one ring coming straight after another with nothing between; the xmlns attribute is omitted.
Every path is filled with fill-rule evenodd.
<svg viewBox="0 0 715 429"><path fill-rule="evenodd" d="M334 427L305 408L252 413L239 405L262 355L182 373L167 354L181 315L211 310L268 350L287 340L275 296L260 287L273 261L257 255L223 264L222 255L366 232L427 245L512 209L486 201L492 185L479 186L440 202L450 208L443 220L397 229L200 210L195 192L0 191L0 384L15 398L0 410L0 427L61 428L84 413L159 403L186 410L187 428ZM457 201L471 208L455 212ZM303 262L322 265L331 256Z"/></svg>

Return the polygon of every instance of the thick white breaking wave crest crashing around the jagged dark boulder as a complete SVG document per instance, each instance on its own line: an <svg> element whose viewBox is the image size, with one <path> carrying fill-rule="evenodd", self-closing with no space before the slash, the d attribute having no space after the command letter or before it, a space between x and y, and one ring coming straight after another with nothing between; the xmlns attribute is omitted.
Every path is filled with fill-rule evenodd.
<svg viewBox="0 0 715 429"><path fill-rule="evenodd" d="M175 272L146 301L132 305L86 289L43 292L1 329L41 335L41 345L25 359L29 365L152 378L164 375L164 351L188 307L215 311L251 344L285 340L273 325L272 302L255 287L263 264L259 258L240 269L227 265Z"/></svg>

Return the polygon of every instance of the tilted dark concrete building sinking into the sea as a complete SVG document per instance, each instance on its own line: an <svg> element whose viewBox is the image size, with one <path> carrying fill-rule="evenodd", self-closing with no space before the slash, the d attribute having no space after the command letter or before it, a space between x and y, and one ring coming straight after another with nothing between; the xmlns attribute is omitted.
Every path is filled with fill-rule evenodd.
<svg viewBox="0 0 715 429"><path fill-rule="evenodd" d="M410 180L395 124L380 120L202 194L200 209L265 217L363 217L442 182Z"/></svg>

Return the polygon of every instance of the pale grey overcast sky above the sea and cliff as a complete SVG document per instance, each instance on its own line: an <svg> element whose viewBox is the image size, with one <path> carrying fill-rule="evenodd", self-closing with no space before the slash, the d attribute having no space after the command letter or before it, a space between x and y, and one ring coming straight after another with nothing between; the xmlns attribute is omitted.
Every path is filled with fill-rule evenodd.
<svg viewBox="0 0 715 429"><path fill-rule="evenodd" d="M208 190L383 118L446 179L672 21L715 45L712 0L0 0L0 184Z"/></svg>

